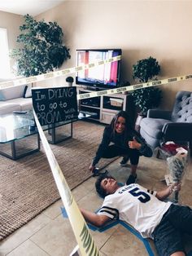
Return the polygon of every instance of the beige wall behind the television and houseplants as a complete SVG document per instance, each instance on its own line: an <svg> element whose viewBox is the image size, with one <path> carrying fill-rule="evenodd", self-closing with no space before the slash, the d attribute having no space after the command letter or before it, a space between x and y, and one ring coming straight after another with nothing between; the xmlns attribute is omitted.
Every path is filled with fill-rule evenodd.
<svg viewBox="0 0 192 256"><path fill-rule="evenodd" d="M191 1L67 1L36 18L57 21L62 27L64 42L72 55L62 68L76 65L78 48L116 47L123 51L122 79L131 83L135 83L133 64L150 55L161 66L159 79L192 71ZM9 28L10 42L19 33L20 19L15 15L10 21L5 20L10 28L14 26ZM64 85L65 77L41 84ZM190 79L161 86L164 90L162 107L171 108L176 92L191 90L191 84Z"/></svg>

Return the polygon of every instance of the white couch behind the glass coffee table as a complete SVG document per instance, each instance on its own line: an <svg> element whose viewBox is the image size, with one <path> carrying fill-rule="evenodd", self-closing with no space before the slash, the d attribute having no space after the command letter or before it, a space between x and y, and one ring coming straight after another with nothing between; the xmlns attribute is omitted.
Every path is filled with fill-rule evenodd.
<svg viewBox="0 0 192 256"><path fill-rule="evenodd" d="M27 90L25 86L11 86L0 89L0 115L33 108L32 98L30 97L31 85L28 85ZM24 98L26 96L28 98Z"/></svg>

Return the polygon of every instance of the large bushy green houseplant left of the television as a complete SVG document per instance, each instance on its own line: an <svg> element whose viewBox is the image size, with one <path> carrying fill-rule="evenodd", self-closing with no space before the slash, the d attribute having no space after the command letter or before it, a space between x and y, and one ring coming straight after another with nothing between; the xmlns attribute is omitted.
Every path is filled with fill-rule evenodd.
<svg viewBox="0 0 192 256"><path fill-rule="evenodd" d="M63 32L56 22L46 23L24 15L24 24L17 42L21 47L11 51L16 60L16 73L24 77L36 76L59 68L71 56L63 45Z"/></svg>

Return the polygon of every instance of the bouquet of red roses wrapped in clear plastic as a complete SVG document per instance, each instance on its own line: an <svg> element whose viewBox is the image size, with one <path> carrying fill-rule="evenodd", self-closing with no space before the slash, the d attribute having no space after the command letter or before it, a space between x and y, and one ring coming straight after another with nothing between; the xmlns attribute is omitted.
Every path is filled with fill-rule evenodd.
<svg viewBox="0 0 192 256"><path fill-rule="evenodd" d="M168 174L164 175L167 185L181 183L190 162L190 143L168 141L155 148L155 154L167 162ZM172 202L178 201L179 192L173 192Z"/></svg>

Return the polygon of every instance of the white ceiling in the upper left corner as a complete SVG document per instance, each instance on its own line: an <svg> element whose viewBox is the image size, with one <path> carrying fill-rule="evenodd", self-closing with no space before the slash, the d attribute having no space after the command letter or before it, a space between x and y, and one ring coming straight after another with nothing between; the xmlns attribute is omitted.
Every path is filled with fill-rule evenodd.
<svg viewBox="0 0 192 256"><path fill-rule="evenodd" d="M0 0L0 11L19 15L39 15L66 0Z"/></svg>

